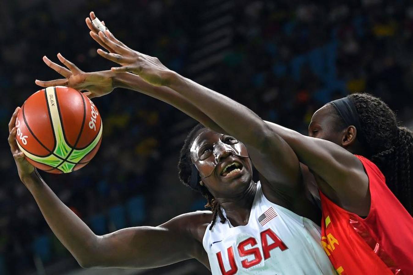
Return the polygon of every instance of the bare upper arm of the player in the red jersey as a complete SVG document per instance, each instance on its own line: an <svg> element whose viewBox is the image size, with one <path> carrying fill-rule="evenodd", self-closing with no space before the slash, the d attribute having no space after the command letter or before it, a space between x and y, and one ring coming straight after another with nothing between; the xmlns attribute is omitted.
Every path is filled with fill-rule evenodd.
<svg viewBox="0 0 413 275"><path fill-rule="evenodd" d="M269 124L287 141L299 161L321 179L317 180L321 190L331 190L338 199L335 202L351 212L368 212L368 176L355 155L331 141L304 136L271 122Z"/></svg>

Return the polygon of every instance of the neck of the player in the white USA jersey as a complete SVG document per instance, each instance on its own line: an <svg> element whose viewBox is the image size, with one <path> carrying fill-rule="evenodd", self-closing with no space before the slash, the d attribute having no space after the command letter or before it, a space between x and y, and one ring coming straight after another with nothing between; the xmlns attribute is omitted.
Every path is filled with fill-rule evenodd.
<svg viewBox="0 0 413 275"><path fill-rule="evenodd" d="M256 184L252 183L248 189L236 197L217 198L221 207L225 210L227 219L233 226L246 225L251 212L252 203L256 193Z"/></svg>

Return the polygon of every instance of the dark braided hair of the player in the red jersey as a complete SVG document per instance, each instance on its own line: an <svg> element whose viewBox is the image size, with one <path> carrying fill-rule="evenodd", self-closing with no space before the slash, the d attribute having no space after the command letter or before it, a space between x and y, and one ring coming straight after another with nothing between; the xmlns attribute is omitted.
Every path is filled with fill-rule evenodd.
<svg viewBox="0 0 413 275"><path fill-rule="evenodd" d="M365 157L379 167L389 189L412 215L413 133L398 126L396 114L381 99L370 94L347 97L356 106L361 124L357 130L369 152Z"/></svg>

